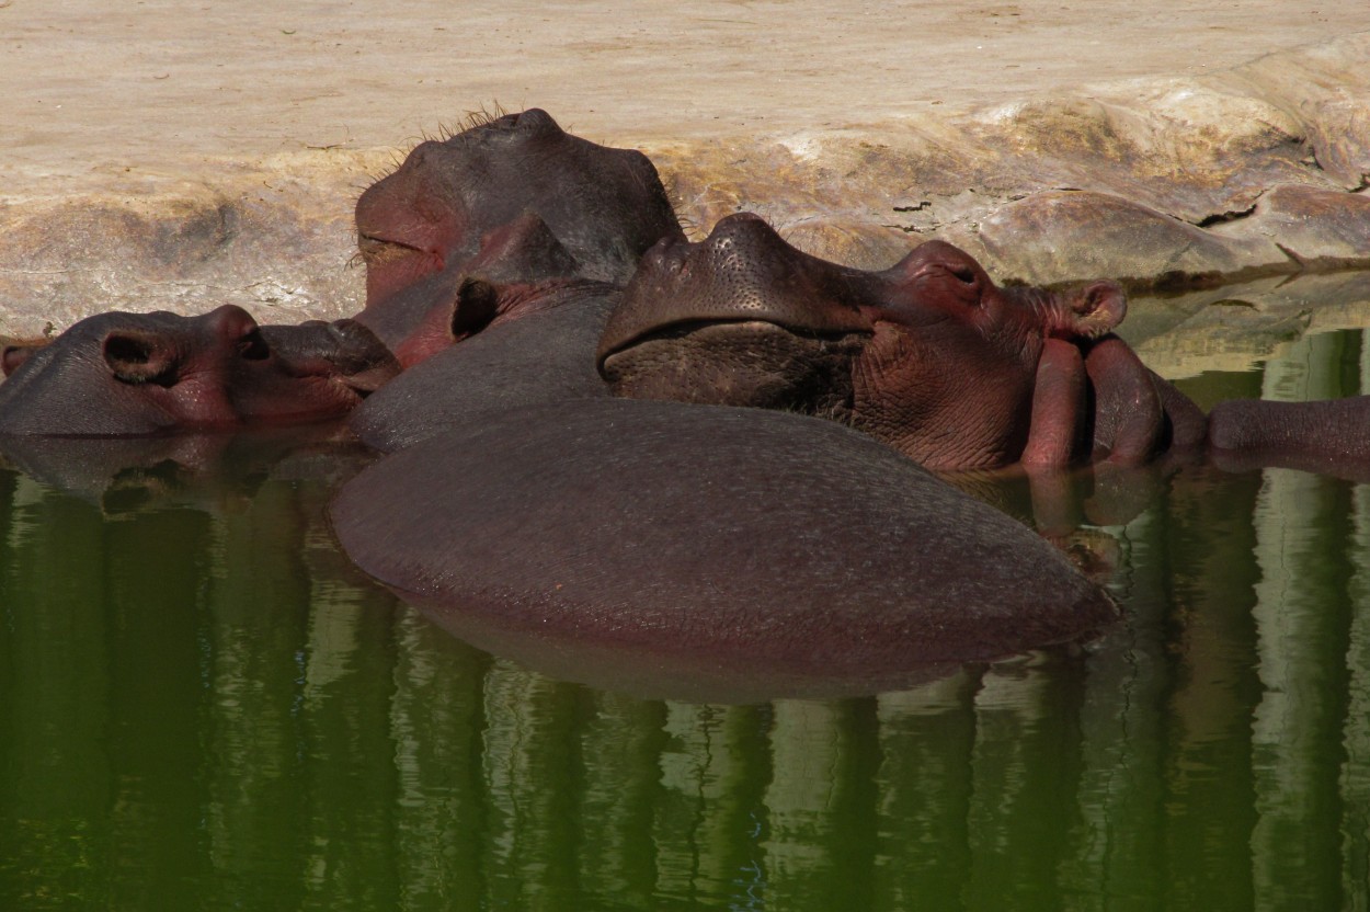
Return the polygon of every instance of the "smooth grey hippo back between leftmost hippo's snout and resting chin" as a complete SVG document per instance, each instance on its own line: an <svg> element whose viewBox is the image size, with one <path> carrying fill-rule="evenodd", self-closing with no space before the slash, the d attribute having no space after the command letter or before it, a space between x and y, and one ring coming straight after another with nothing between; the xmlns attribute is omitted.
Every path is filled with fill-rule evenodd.
<svg viewBox="0 0 1370 912"><path fill-rule="evenodd" d="M352 412L352 430L392 452L448 430L477 427L523 405L608 396L595 345L619 289L553 286L559 299L411 367Z"/></svg>

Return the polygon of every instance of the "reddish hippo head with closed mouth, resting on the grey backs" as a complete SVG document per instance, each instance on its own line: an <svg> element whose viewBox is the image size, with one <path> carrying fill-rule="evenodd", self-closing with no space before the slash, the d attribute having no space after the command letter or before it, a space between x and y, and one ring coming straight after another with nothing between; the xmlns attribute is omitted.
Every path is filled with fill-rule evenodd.
<svg viewBox="0 0 1370 912"><path fill-rule="evenodd" d="M847 268L741 214L643 257L597 359L622 396L822 414L929 467L978 468L1022 457L1052 345L1108 333L1125 308L1111 282L999 288L940 241Z"/></svg>

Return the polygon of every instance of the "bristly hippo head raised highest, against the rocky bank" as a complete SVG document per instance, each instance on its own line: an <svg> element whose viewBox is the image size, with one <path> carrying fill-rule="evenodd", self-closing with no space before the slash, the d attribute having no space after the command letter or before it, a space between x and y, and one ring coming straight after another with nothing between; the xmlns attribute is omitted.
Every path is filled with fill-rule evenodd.
<svg viewBox="0 0 1370 912"><path fill-rule="evenodd" d="M574 137L533 108L421 142L362 194L367 304L469 260L484 236L529 212L581 275L601 281L622 282L658 238L681 234L645 155Z"/></svg>

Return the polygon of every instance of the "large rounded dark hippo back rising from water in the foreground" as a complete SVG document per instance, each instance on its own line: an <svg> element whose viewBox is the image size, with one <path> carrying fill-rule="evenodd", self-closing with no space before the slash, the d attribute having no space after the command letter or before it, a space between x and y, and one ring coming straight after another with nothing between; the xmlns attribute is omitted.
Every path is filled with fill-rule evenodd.
<svg viewBox="0 0 1370 912"><path fill-rule="evenodd" d="M332 519L363 571L453 630L838 690L1115 618L1022 524L860 433L782 412L527 407L377 461Z"/></svg>

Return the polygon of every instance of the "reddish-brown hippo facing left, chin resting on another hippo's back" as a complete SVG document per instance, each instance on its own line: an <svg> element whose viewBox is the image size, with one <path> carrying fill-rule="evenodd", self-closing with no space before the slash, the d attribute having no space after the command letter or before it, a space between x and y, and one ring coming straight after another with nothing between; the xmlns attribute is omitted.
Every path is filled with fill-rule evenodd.
<svg viewBox="0 0 1370 912"><path fill-rule="evenodd" d="M1112 333L1125 314L1114 282L1000 288L943 241L867 273L740 214L643 257L596 363L618 396L823 415L936 470L1206 456L1370 468L1370 397L1204 415Z"/></svg>

